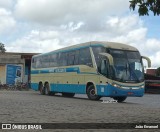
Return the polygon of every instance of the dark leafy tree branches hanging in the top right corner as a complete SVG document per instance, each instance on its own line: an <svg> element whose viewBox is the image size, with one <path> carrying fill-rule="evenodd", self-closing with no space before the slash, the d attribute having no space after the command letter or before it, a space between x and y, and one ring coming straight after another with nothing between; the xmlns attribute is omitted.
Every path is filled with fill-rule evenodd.
<svg viewBox="0 0 160 132"><path fill-rule="evenodd" d="M160 15L160 0L131 0L129 2L130 9L135 10L136 5L139 6L140 16L149 15L149 11L153 12L154 16Z"/></svg>

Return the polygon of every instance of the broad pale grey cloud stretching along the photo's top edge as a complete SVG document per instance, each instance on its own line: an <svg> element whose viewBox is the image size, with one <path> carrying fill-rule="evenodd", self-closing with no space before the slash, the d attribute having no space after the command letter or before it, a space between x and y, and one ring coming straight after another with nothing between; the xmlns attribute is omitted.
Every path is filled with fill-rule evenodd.
<svg viewBox="0 0 160 132"><path fill-rule="evenodd" d="M35 7L36 5L36 7ZM124 13L129 2L118 0L17 0L17 18L41 24L98 21L108 14Z"/></svg>

